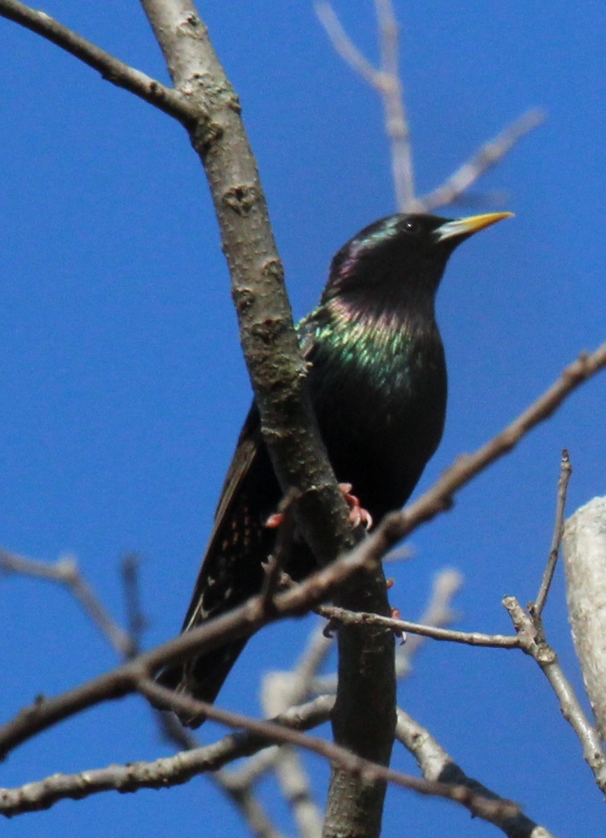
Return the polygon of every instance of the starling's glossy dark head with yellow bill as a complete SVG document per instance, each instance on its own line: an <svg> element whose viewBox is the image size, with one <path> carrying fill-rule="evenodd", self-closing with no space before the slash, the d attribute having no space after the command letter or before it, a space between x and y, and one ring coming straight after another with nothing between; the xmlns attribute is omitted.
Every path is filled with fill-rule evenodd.
<svg viewBox="0 0 606 838"><path fill-rule="evenodd" d="M432 303L448 257L462 241L512 213L390 215L360 230L334 256L323 303L334 297L389 306L398 299Z"/></svg>

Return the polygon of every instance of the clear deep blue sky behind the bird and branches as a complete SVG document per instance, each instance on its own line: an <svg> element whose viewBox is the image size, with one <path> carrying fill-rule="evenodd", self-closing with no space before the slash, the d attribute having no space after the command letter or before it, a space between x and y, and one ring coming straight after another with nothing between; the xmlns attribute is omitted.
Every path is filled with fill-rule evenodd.
<svg viewBox="0 0 606 838"><path fill-rule="evenodd" d="M337 8L376 58L372 4ZM563 0L396 8L421 191L527 107L548 113L477 184L474 204L443 210L495 209L483 196L497 191L507 195L498 209L516 218L465 244L448 267L438 299L448 422L422 489L604 339L604 13L602 3ZM44 10L167 80L136 3L49 0ZM200 12L241 96L299 317L317 301L334 251L394 210L381 108L334 55L309 4L235 0ZM179 629L250 400L210 198L168 116L13 23L0 20L0 44L0 543L48 561L75 553L119 619L119 559L139 552L153 645ZM562 447L574 467L568 510L604 493L604 385L602 376L584 386L452 512L414 534L414 560L393 569L391 600L403 616L417 618L433 575L453 566L465 577L457 626L510 630L500 600L536 595ZM3 718L115 665L65 591L5 577L0 600ZM259 675L289 665L311 624L268 629L253 642L225 706L256 712ZM559 571L546 629L582 691ZM581 748L522 654L427 644L401 703L468 773L555 834L598 834L603 803ZM218 732L208 725L201 738ZM133 698L28 742L3 763L1 783L168 753ZM414 770L400 748L394 763ZM326 772L313 773L321 798ZM271 786L262 794L271 799ZM385 834L398 834L403 820L417 838L495 834L453 804L392 790ZM204 778L62 802L13 820L11 830L18 838L244 834Z"/></svg>

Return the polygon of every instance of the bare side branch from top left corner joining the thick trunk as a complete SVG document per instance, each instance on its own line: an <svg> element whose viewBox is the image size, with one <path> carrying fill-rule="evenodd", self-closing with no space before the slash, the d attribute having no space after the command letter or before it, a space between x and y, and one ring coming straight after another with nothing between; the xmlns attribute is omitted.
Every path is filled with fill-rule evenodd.
<svg viewBox="0 0 606 838"><path fill-rule="evenodd" d="M45 12L30 8L25 3L18 3L18 0L0 0L0 16L20 23L61 49L65 49L93 70L98 70L104 79L111 81L112 85L134 93L135 96L167 113L168 116L174 116L184 125L187 126L193 122L195 111L179 92L166 87L140 70L124 64L120 59L96 44L92 44L91 41L87 41L59 21L49 17Z"/></svg>

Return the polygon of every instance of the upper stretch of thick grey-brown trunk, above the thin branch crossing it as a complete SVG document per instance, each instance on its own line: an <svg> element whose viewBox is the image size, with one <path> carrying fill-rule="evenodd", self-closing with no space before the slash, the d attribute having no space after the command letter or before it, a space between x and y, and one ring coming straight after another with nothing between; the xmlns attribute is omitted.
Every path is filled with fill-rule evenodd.
<svg viewBox="0 0 606 838"><path fill-rule="evenodd" d="M305 386L305 365L284 290L241 108L194 3L142 0L175 88L197 113L189 128L219 221L242 348L277 477L298 493L303 533L319 561L353 543Z"/></svg>

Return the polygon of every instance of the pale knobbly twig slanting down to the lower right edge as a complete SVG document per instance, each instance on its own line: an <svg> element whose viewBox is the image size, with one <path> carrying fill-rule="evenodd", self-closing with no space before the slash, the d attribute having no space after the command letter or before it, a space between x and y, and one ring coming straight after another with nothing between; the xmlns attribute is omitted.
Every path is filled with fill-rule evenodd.
<svg viewBox="0 0 606 838"><path fill-rule="evenodd" d="M606 753L595 727L589 722L578 698L562 671L557 660L557 654L547 644L541 625L541 618L534 620L525 613L515 597L505 597L503 604L510 615L511 622L521 640L521 648L541 667L543 675L552 685L560 702L562 716L577 734L583 747L583 757L598 783L599 788L606 792Z"/></svg>

